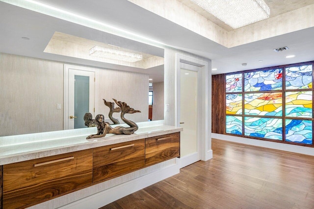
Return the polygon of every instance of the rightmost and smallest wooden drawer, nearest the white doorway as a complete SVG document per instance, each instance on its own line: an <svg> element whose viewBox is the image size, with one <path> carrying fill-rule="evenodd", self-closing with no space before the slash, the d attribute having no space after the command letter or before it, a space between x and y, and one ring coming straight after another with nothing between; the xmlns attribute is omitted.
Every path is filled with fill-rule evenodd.
<svg viewBox="0 0 314 209"><path fill-rule="evenodd" d="M180 157L180 132L145 139L145 166Z"/></svg>

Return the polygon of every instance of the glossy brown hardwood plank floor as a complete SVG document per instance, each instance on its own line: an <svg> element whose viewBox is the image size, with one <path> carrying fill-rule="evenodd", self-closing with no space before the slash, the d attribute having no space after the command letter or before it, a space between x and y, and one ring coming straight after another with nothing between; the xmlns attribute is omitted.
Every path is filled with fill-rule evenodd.
<svg viewBox="0 0 314 209"><path fill-rule="evenodd" d="M212 139L213 159L101 209L314 209L314 157Z"/></svg>

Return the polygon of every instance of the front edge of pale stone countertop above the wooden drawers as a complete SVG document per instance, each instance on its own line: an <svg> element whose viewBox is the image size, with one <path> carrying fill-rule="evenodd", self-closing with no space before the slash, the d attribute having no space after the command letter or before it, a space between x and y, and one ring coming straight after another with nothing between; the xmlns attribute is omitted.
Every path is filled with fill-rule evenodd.
<svg viewBox="0 0 314 209"><path fill-rule="evenodd" d="M31 151L24 151L24 152L22 151L22 152L13 153L13 154L0 155L0 165L18 163L18 162L23 162L23 161L28 161L28 160L38 159L38 158L44 158L44 157L49 157L49 156L54 156L54 155L59 155L59 154L76 152L76 151L85 150L85 149L91 149L95 147L101 147L101 146L106 146L106 145L111 145L111 144L128 142L128 141L133 141L137 139L145 139L145 138L156 137L160 135L172 134L172 133L183 131L183 128L181 127L167 126L167 125L156 126L157 130L154 130L155 127L150 127L150 128L152 128L152 130L148 132L140 132L141 128L139 128L139 130L137 131L139 132L138 134L135 132L134 134L131 134L131 135L111 135L111 136L106 136L105 138L86 139L86 142L78 142L77 144L47 147L47 148L41 148L41 149L34 149ZM143 128L143 129L146 129L146 128ZM64 139L64 140L67 140L67 139ZM14 149L14 146L16 146L18 149L18 145L12 145L12 146L13 146L11 147L12 149ZM34 146L36 146L36 142L34 142Z"/></svg>

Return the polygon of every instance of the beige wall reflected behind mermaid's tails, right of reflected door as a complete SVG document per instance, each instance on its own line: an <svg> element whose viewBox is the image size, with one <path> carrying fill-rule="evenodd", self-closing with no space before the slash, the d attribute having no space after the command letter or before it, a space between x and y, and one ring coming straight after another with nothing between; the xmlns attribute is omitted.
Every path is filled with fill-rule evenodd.
<svg viewBox="0 0 314 209"><path fill-rule="evenodd" d="M141 111L141 113L126 114L127 119L134 122L148 121L148 74L102 69L99 70L98 80L98 113L109 118L109 108L105 106L103 99L114 102L112 100L114 98L126 102L134 110ZM118 106L115 104L115 107ZM120 113L114 113L113 117L119 118L120 123L124 123L120 119Z"/></svg>

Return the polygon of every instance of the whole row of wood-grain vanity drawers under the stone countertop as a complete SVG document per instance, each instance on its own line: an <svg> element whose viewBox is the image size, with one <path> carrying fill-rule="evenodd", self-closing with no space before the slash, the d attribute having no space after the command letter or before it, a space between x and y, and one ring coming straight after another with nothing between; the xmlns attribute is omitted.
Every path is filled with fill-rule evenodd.
<svg viewBox="0 0 314 209"><path fill-rule="evenodd" d="M180 132L1 165L0 209L26 208L176 157Z"/></svg>

